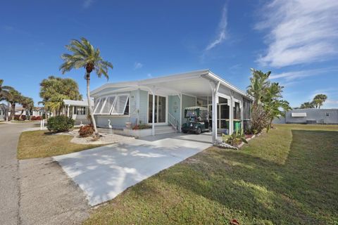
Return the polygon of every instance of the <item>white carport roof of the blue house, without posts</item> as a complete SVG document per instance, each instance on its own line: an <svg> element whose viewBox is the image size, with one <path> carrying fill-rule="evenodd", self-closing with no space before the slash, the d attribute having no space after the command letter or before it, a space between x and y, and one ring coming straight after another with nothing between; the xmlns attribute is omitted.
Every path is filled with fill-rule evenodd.
<svg viewBox="0 0 338 225"><path fill-rule="evenodd" d="M92 96L101 96L112 92L131 91L134 89L154 90L159 94L189 94L192 96L210 96L210 82L220 82L221 86L240 94L246 98L252 99L244 91L236 86L218 77L210 70L197 70L184 72L175 75L142 79L132 82L108 83L92 91ZM113 91L112 91L113 89Z"/></svg>

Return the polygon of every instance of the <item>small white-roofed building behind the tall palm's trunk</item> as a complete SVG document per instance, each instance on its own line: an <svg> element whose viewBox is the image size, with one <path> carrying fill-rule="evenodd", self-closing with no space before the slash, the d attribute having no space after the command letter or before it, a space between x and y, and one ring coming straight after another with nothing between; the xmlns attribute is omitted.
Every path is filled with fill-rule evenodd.
<svg viewBox="0 0 338 225"><path fill-rule="evenodd" d="M92 104L94 104L93 101ZM63 105L64 107L62 110L62 114L73 118L73 120L75 120L75 124L78 125L90 123L90 120L88 119L89 108L87 99L85 99L84 101L64 99Z"/></svg>

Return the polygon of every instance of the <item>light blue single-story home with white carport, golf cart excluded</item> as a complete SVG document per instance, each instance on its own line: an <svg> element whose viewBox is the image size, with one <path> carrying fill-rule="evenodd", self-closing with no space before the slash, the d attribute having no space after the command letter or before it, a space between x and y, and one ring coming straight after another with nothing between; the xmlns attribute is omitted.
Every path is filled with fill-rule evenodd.
<svg viewBox="0 0 338 225"><path fill-rule="evenodd" d="M184 108L208 108L213 142L217 134L234 131L234 121L247 127L251 96L210 70L184 72L131 82L108 83L91 92L98 127L123 129L135 124L151 125L151 134L163 127L180 131ZM217 110L213 110L213 109Z"/></svg>

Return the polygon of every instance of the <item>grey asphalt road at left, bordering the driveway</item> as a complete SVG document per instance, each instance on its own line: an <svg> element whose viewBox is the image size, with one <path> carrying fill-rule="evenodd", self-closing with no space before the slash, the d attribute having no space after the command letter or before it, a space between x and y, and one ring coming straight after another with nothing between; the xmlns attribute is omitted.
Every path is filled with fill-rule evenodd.
<svg viewBox="0 0 338 225"><path fill-rule="evenodd" d="M0 224L80 224L87 199L58 163L16 159L20 133L30 127L0 124Z"/></svg>

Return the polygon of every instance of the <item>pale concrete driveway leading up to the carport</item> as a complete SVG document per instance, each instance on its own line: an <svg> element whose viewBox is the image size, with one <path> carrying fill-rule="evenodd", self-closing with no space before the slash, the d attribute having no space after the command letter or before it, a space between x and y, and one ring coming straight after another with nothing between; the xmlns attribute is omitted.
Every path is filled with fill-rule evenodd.
<svg viewBox="0 0 338 225"><path fill-rule="evenodd" d="M54 157L90 205L115 198L177 162L211 146L209 134L164 134Z"/></svg>

